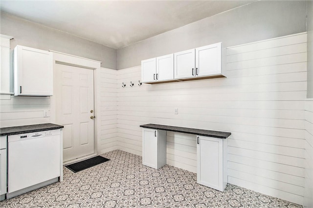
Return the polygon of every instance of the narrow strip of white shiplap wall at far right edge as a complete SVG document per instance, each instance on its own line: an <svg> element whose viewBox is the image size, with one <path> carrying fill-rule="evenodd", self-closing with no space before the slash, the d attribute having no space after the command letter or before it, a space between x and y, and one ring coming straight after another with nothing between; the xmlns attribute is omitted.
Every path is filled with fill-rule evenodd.
<svg viewBox="0 0 313 208"><path fill-rule="evenodd" d="M305 101L305 195L304 207L313 207L313 99Z"/></svg>

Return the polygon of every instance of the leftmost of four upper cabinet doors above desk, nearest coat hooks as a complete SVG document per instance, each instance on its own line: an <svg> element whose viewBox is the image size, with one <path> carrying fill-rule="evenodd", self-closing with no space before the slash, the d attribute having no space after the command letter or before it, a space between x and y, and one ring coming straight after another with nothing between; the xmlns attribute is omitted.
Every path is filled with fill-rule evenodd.
<svg viewBox="0 0 313 208"><path fill-rule="evenodd" d="M142 82L156 81L156 58L141 61Z"/></svg>

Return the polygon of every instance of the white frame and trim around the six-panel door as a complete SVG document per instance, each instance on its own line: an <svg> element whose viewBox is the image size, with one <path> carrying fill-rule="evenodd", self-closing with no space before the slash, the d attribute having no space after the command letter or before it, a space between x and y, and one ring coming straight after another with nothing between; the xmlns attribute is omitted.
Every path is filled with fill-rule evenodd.
<svg viewBox="0 0 313 208"><path fill-rule="evenodd" d="M67 165L70 163L74 163L80 160L84 160L87 159L89 157L92 156L96 156L99 152L99 138L100 138L100 130L101 130L101 121L100 121L100 117L98 117L98 115L100 116L100 113L98 113L98 111L100 112L101 109L101 105L100 102L98 102L97 98L98 96L98 91L97 90L97 83L100 83L100 76L97 76L97 74L100 74L100 68L101 68L101 61L96 61L96 60L92 60L89 58L84 58L84 57L78 57L78 56L74 56L74 55L69 55L69 54L65 54L65 53L61 53L61 52L57 52L57 51L51 51L53 54L53 91L55 91L55 86L56 86L56 64L64 64L64 65L69 65L69 66L76 66L76 67L81 67L81 68L85 68L85 69L90 69L93 70L93 99L94 99L94 153L93 154L89 154L87 156L78 158L78 159L74 159L74 160L70 160L67 161L65 163L63 163L63 141L61 142L61 163L63 163L63 165ZM56 123L56 98L55 96L50 96L50 122L51 123Z"/></svg>

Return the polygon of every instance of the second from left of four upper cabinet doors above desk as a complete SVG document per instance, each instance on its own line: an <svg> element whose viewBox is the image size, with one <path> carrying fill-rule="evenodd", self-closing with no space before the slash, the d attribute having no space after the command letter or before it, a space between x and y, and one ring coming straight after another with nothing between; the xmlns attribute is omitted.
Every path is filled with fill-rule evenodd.
<svg viewBox="0 0 313 208"><path fill-rule="evenodd" d="M156 81L174 79L174 54L156 57Z"/></svg>

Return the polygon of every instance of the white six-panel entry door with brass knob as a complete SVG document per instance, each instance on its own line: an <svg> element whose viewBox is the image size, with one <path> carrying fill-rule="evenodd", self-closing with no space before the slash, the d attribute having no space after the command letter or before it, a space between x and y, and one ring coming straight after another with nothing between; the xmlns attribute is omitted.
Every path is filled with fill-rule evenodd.
<svg viewBox="0 0 313 208"><path fill-rule="evenodd" d="M56 123L63 125L63 162L94 153L93 70L55 65Z"/></svg>

